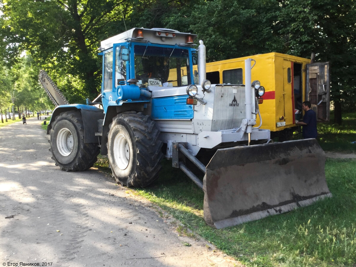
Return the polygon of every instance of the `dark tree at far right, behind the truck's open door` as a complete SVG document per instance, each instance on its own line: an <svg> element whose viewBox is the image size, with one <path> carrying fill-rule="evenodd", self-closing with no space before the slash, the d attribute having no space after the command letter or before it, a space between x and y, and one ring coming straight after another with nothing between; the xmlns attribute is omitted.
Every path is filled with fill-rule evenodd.
<svg viewBox="0 0 356 267"><path fill-rule="evenodd" d="M356 59L356 6L354 0L282 1L274 30L284 40L285 53L331 63L331 100L335 122L341 124L341 110L356 101L353 86Z"/></svg>

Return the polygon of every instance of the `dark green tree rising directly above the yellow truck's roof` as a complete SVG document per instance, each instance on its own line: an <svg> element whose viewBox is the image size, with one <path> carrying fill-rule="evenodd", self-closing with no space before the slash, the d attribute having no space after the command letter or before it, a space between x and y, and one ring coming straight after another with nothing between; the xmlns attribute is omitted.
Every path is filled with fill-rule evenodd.
<svg viewBox="0 0 356 267"><path fill-rule="evenodd" d="M205 41L209 61L271 50L279 52L279 39L271 29L275 20L275 1L243 0L231 3L219 0L201 3L197 8L198 20L193 22L191 29L196 29L198 37Z"/></svg>

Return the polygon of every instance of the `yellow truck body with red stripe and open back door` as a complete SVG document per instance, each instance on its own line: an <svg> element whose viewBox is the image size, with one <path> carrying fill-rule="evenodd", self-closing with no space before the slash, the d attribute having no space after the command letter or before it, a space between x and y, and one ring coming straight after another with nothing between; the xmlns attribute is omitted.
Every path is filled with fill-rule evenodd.
<svg viewBox="0 0 356 267"><path fill-rule="evenodd" d="M252 80L265 87L260 105L262 129L272 137L286 140L296 130L295 120L303 116L302 103L308 100L318 121L329 121L329 63L313 63L310 59L281 53L257 54L249 57L206 63L206 79L212 84L245 84L245 59L252 58ZM260 121L257 117L257 125Z"/></svg>

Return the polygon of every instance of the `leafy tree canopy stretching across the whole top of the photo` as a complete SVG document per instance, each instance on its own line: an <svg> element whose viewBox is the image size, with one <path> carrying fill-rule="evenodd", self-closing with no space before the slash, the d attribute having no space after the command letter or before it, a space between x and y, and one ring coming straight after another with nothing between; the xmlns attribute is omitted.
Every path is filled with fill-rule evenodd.
<svg viewBox="0 0 356 267"><path fill-rule="evenodd" d="M1 0L0 6L4 63L11 66L26 50L70 102L99 93L96 49L101 40L132 27L197 33L208 61L315 52L317 61L331 62L335 112L350 110L356 100L354 0Z"/></svg>

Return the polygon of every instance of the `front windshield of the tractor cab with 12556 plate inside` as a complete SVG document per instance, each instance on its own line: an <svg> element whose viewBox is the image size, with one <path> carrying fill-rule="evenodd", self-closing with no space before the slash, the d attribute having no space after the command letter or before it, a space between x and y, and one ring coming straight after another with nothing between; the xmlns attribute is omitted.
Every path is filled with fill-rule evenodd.
<svg viewBox="0 0 356 267"><path fill-rule="evenodd" d="M139 86L178 87L191 83L188 49L136 45L134 52Z"/></svg>

